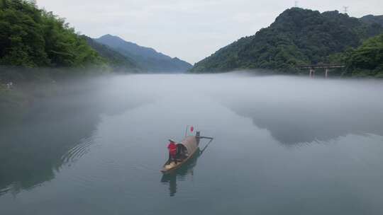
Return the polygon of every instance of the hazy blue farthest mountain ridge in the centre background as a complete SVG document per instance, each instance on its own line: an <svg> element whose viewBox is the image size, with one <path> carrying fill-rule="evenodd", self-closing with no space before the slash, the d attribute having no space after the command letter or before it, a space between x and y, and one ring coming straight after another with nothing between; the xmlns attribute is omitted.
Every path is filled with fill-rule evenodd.
<svg viewBox="0 0 383 215"><path fill-rule="evenodd" d="M108 45L124 56L133 59L138 66L149 72L184 72L192 67L191 64L181 59L172 58L152 48L142 47L133 42L127 42L120 37L104 35L95 39L104 45Z"/></svg>

